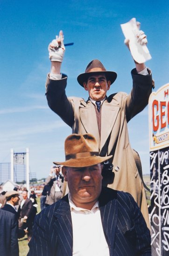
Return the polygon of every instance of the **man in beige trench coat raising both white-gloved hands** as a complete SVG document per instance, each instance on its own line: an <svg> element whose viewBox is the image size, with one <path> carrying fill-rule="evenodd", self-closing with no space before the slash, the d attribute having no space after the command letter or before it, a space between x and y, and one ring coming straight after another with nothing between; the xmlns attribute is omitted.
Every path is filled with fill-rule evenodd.
<svg viewBox="0 0 169 256"><path fill-rule="evenodd" d="M140 44L147 43L146 35L141 30L138 41ZM148 104L153 87L151 71L144 63L135 63L136 68L131 72L131 93L107 95L117 73L107 71L98 59L94 59L77 77L80 86L88 91L87 101L80 97L67 98L67 77L61 74L65 51L62 30L59 37L49 44L48 50L51 71L46 81L46 97L49 107L72 128L72 133L92 133L98 141L101 156L113 155L109 160L110 165L113 163L113 170L109 178L104 177L103 184L131 193L150 227L140 158L131 148L127 123Z"/></svg>

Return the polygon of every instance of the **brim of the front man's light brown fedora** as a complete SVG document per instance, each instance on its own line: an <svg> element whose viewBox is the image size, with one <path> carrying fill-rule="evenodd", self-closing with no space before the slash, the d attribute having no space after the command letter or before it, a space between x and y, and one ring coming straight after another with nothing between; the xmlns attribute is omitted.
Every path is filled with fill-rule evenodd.
<svg viewBox="0 0 169 256"><path fill-rule="evenodd" d="M88 167L95 164L102 163L108 159L110 159L113 155L109 156L89 156L83 158L69 159L64 162L53 162L54 164L60 164L67 167Z"/></svg>

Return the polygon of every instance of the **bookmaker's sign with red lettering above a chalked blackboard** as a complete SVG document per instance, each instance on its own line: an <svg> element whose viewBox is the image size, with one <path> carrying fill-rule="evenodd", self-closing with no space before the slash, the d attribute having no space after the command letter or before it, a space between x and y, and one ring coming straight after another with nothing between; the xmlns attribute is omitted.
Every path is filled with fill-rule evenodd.
<svg viewBox="0 0 169 256"><path fill-rule="evenodd" d="M169 255L169 84L149 98L152 256Z"/></svg>

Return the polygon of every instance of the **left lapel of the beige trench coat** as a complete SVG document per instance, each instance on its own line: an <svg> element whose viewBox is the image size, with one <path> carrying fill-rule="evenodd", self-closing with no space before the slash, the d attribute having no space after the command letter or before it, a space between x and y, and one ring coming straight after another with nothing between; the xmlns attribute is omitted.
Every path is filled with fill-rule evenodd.
<svg viewBox="0 0 169 256"><path fill-rule="evenodd" d="M92 133L96 138L98 145L100 145L100 136L95 107L90 100L87 103L81 103L83 104L81 104L81 106L79 107L79 111L80 119L84 126L84 129L87 133Z"/></svg>

